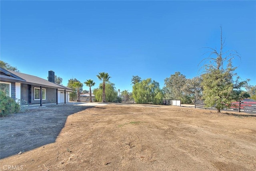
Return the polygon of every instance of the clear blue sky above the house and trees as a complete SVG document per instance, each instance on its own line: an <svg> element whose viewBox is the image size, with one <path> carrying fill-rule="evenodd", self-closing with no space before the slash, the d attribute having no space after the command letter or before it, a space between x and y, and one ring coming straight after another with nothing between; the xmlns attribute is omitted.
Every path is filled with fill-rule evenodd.
<svg viewBox="0 0 256 171"><path fill-rule="evenodd" d="M94 80L108 72L121 91L132 76L164 86L198 76L203 47L237 50L236 72L256 85L256 1L0 1L1 60L47 79ZM88 89L84 85L83 89Z"/></svg>

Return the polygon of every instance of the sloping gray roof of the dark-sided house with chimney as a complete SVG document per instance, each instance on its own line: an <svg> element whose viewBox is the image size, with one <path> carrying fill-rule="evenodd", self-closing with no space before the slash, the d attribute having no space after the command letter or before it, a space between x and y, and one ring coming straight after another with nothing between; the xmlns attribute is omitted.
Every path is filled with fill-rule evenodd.
<svg viewBox="0 0 256 171"><path fill-rule="evenodd" d="M48 80L39 78L37 76L32 76L29 74L15 72L11 70L5 70L4 68L0 68L0 71L1 71L0 80L2 81L20 82L23 84L31 84L31 85L38 85L38 86L44 86L44 87L58 88L60 90L66 89L67 91L73 91L70 87L52 83L52 82L49 82Z"/></svg>

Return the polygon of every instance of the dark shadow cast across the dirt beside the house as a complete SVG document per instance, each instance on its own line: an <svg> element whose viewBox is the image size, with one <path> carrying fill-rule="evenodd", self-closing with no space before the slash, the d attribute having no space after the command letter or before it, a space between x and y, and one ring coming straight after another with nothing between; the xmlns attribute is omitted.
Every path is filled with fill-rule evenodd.
<svg viewBox="0 0 256 171"><path fill-rule="evenodd" d="M0 159L54 143L69 115L91 107L54 105L1 117Z"/></svg>

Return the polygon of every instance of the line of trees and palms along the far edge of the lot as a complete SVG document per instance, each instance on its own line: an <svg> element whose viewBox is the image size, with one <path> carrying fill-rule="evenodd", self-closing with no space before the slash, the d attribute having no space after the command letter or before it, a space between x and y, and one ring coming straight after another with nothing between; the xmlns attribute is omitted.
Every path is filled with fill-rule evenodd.
<svg viewBox="0 0 256 171"><path fill-rule="evenodd" d="M68 80L68 87L73 89L70 93L71 101L80 101L80 93L92 92L96 101L102 102L135 102L162 104L163 99L181 100L181 103L193 103L193 100L204 99L206 107L216 106L218 112L221 109L230 107L232 101L251 98L256 100L256 85L250 85L249 79L241 80L236 74L237 67L232 65L232 60L240 58L235 50L224 51L224 40L222 38L222 28L220 27L220 50L205 47L207 50L204 58L199 64L201 66L200 75L194 78L186 78L180 72L171 74L164 80L164 87L161 89L159 83L151 78L142 80L139 76L132 76L132 92L128 90L116 90L115 84L110 82L110 76L106 72L100 72L96 77L102 81L97 88L91 89L95 85L89 79L84 82L89 87L89 91L83 90L83 84L76 78ZM0 61L2 68L19 72L16 67ZM62 78L55 76L55 82L62 84ZM244 88L244 90L242 90ZM121 95L120 95L121 94Z"/></svg>

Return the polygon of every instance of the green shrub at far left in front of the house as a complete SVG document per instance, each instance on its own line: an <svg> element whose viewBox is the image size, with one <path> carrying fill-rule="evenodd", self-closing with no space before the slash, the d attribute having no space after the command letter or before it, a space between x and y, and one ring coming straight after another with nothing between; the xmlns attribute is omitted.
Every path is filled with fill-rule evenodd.
<svg viewBox="0 0 256 171"><path fill-rule="evenodd" d="M20 105L6 93L0 91L0 116L17 113L20 111Z"/></svg>

